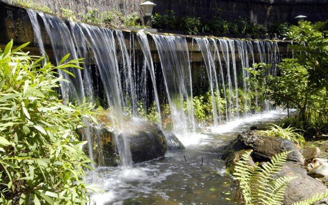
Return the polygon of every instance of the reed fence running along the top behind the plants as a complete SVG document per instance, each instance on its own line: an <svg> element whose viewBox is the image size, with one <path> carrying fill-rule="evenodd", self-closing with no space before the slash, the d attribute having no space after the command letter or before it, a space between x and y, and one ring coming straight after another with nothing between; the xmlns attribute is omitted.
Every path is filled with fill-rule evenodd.
<svg viewBox="0 0 328 205"><path fill-rule="evenodd" d="M15 1L15 0L0 0ZM146 0L30 0L40 5L49 6L55 13L60 8L70 8L77 15L91 9L98 12L111 9L120 10L124 14L137 12L142 15L139 4ZM174 10L180 16L196 16L211 19L220 16L233 20L251 17L253 22L268 25L272 22L296 23L297 15L308 16L308 20L316 22L328 19L328 0L151 0L157 4L154 12L165 13Z"/></svg>

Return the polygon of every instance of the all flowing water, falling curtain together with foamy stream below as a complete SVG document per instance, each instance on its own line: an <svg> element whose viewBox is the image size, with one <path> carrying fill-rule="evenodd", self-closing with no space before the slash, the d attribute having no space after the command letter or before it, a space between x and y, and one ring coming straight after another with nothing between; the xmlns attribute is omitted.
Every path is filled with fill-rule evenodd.
<svg viewBox="0 0 328 205"><path fill-rule="evenodd" d="M152 104L162 129L160 104L167 102L173 121L172 132L186 146L186 150L168 152L165 157L133 165L128 137L114 134L121 166L99 167L87 178L105 191L92 196L98 204L235 203L235 185L231 176L225 173L219 156L222 147L241 131L284 116L285 113L280 111L256 115L249 112L248 105L252 103L247 98L249 84L246 78L249 74L243 69L252 63L263 62L273 64L268 72L275 74L279 58L277 43L193 38L190 44L181 36L127 34L65 22L33 10L28 10L28 14L42 55L45 49L37 15L43 21L57 64L67 53L70 53L68 59L85 58L85 64L80 65L84 70L69 69L75 77L58 71L70 82L61 86L64 101L75 100L81 104L85 97L93 103L101 101L116 114L111 118L113 128L118 130L125 123L125 114L140 117L142 109L149 110ZM214 125L198 130L193 104L193 73L199 67L192 67L193 63L199 63L192 61L193 55L197 54L201 54L200 65L206 67L198 77L201 85L209 85ZM238 101L242 95L240 89L244 94L243 108ZM258 97L255 101L256 108L262 104ZM265 103L265 110L269 111L269 103ZM91 138L85 119L84 124L92 159L93 148L100 146L100 140ZM98 144L94 145L94 141ZM104 163L99 161L99 164Z"/></svg>

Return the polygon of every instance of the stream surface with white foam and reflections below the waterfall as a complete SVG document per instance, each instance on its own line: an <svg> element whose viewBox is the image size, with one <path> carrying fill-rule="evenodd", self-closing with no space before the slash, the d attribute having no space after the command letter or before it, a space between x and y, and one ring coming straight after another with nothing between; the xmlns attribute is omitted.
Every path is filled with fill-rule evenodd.
<svg viewBox="0 0 328 205"><path fill-rule="evenodd" d="M97 204L114 205L236 204L235 184L220 160L222 147L251 125L264 127L285 114L271 111L252 115L180 137L186 150L168 152L163 158L125 170L98 168L97 184L105 192L94 194L92 199Z"/></svg>

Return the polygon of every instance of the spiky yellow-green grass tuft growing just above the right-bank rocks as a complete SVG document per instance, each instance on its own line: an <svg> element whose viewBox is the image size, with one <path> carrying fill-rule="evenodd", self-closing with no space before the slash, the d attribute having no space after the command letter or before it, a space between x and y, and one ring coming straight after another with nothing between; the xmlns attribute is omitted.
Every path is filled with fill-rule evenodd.
<svg viewBox="0 0 328 205"><path fill-rule="evenodd" d="M291 140L296 144L302 144L303 142L305 142L304 137L299 134L301 130L292 127L281 128L274 124L271 125L273 126L271 126L268 130L261 132L270 137L281 137L284 139Z"/></svg>

